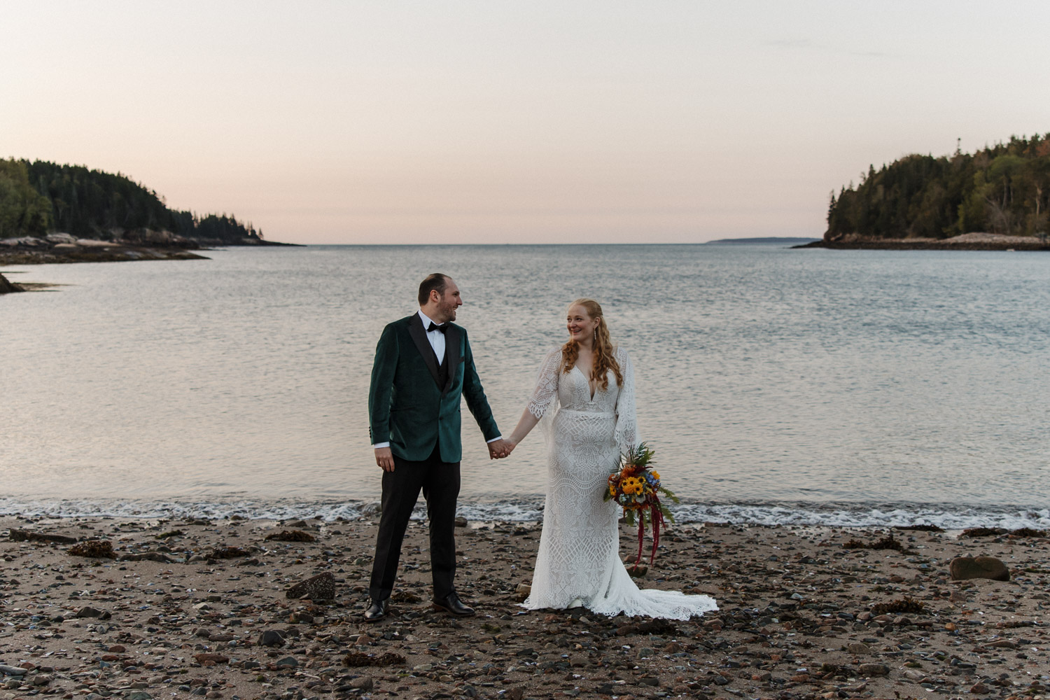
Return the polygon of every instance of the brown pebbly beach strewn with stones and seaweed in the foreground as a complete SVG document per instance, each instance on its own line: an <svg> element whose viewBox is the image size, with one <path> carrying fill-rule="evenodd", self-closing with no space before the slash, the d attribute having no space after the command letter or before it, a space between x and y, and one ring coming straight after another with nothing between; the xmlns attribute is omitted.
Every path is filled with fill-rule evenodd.
<svg viewBox="0 0 1050 700"><path fill-rule="evenodd" d="M458 588L477 616L430 607L413 522L392 614L366 624L373 519L5 517L0 697L1050 693L1043 531L673 527L643 587L720 610L667 621L525 611L539 524L460 525ZM996 575L970 560L949 573L976 555L1009 580L953 579Z"/></svg>

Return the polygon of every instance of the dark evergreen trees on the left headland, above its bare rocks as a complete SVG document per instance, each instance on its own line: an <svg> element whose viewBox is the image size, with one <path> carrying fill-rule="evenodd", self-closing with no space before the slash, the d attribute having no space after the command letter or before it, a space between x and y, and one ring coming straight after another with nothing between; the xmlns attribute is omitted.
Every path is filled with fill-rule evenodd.
<svg viewBox="0 0 1050 700"><path fill-rule="evenodd" d="M0 239L75 238L196 248L266 245L262 231L227 214L169 209L129 177L46 161L0 160ZM32 242L32 241L30 241Z"/></svg>

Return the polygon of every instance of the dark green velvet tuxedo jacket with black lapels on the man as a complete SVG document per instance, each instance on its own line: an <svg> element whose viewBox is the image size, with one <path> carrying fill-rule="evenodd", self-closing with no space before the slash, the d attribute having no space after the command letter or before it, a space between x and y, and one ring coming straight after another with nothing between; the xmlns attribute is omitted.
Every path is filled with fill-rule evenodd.
<svg viewBox="0 0 1050 700"><path fill-rule="evenodd" d="M442 462L459 462L463 454L460 397L466 399L485 440L500 437L463 326L448 324L444 362L447 380L439 386L437 360L419 314L383 328L369 389L373 445L390 442L397 457L422 462L437 444Z"/></svg>

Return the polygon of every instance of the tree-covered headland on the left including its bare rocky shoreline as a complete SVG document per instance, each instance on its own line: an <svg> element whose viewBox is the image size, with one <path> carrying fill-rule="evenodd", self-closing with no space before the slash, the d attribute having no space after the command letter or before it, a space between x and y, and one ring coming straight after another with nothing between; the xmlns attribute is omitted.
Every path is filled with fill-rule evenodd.
<svg viewBox="0 0 1050 700"><path fill-rule="evenodd" d="M202 257L190 250L280 246L235 216L169 209L123 174L0 160L0 262Z"/></svg>

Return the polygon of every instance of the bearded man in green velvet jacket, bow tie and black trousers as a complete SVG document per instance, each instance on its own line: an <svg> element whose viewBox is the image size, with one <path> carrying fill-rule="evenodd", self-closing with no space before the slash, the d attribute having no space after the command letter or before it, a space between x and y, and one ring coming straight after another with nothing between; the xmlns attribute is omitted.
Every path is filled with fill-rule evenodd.
<svg viewBox="0 0 1050 700"><path fill-rule="evenodd" d="M369 432L383 470L383 490L366 622L386 616L401 540L420 489L430 522L434 604L454 615L474 615L453 587L461 396L488 442L489 458L509 450L481 388L466 330L452 322L462 304L450 277L429 275L419 285L419 312L387 324L376 346Z"/></svg>

